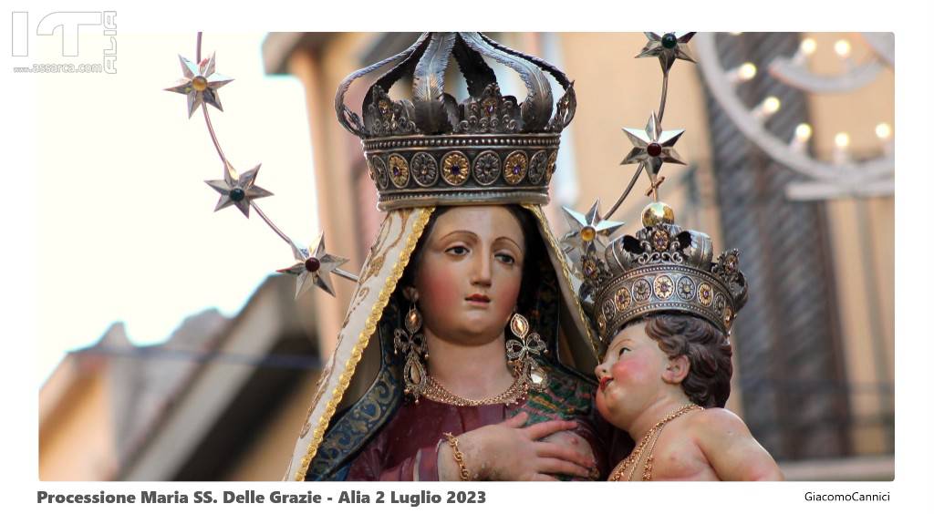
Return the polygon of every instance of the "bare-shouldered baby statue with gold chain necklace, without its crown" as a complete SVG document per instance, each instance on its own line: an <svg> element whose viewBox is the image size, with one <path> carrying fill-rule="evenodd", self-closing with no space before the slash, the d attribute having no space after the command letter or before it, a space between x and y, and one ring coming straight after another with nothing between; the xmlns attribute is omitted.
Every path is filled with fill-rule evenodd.
<svg viewBox="0 0 934 514"><path fill-rule="evenodd" d="M597 408L636 441L610 480L781 480L743 420L723 409L732 350L709 322L652 314L624 326L595 373Z"/></svg>

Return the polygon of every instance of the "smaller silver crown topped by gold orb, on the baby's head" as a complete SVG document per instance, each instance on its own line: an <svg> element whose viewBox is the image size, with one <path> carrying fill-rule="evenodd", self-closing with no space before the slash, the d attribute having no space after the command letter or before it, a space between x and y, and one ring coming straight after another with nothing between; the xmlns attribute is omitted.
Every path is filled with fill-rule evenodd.
<svg viewBox="0 0 934 514"><path fill-rule="evenodd" d="M601 339L609 342L647 314L672 312L699 316L729 336L749 289L739 251L715 259L710 236L675 225L672 208L661 201L645 207L642 222L642 229L609 243L602 255L591 244L581 256L581 294L592 299Z"/></svg>

